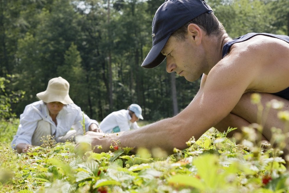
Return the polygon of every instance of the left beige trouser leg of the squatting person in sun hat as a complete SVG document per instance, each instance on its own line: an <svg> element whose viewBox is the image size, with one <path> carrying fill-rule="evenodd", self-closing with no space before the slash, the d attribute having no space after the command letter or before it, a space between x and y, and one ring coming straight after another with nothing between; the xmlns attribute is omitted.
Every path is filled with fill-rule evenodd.
<svg viewBox="0 0 289 193"><path fill-rule="evenodd" d="M50 123L40 120L37 123L37 127L32 136L31 142L34 146L40 146L43 144L42 139L46 139L46 136L51 135Z"/></svg>

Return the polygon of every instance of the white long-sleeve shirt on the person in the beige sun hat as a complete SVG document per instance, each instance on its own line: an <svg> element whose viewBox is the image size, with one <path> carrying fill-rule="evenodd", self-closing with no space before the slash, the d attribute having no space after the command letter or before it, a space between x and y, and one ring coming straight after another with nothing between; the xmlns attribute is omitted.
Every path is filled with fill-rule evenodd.
<svg viewBox="0 0 289 193"><path fill-rule="evenodd" d="M92 123L98 125L96 120L90 119L82 112L80 107L72 103L64 105L62 110L59 111L56 117L56 126L49 115L46 104L44 104L42 100L33 102L32 104L28 104L25 107L24 112L20 115L20 124L11 145L15 144L16 147L17 144L20 143L31 144L31 139L39 120L50 123L51 133L55 136L55 139L64 136L71 128L75 129L77 134L84 134L82 126L83 119L85 131L88 131L88 128Z"/></svg>

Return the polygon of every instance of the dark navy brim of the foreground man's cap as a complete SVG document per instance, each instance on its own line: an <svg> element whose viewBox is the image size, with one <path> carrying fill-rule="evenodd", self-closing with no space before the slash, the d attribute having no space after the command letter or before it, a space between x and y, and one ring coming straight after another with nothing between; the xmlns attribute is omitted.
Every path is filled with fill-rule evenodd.
<svg viewBox="0 0 289 193"><path fill-rule="evenodd" d="M164 61L165 56L160 52L162 51L170 36L171 34L152 46L152 49L150 49L150 52L147 54L144 62L142 62L142 67L154 68Z"/></svg>

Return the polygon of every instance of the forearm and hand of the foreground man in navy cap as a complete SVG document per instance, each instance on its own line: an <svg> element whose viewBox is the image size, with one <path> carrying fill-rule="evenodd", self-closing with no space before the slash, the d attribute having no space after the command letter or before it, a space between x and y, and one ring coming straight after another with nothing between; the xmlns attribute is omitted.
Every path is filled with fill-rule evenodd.
<svg viewBox="0 0 289 193"><path fill-rule="evenodd" d="M197 108L201 107L197 106ZM160 147L171 154L174 148L185 149L186 141L189 141L192 136L199 139L207 129L213 126L214 117L207 119L208 115L206 115L204 119L208 121L204 122L200 118L204 116L204 113L199 115L196 112L195 108L191 110L187 107L175 117L160 120L137 130L114 134L87 132L85 139L91 143L94 152L107 152L112 144L112 146L118 145L119 147L135 147L133 151L139 147L147 149ZM76 151L81 149L80 147L81 144L77 144Z"/></svg>

